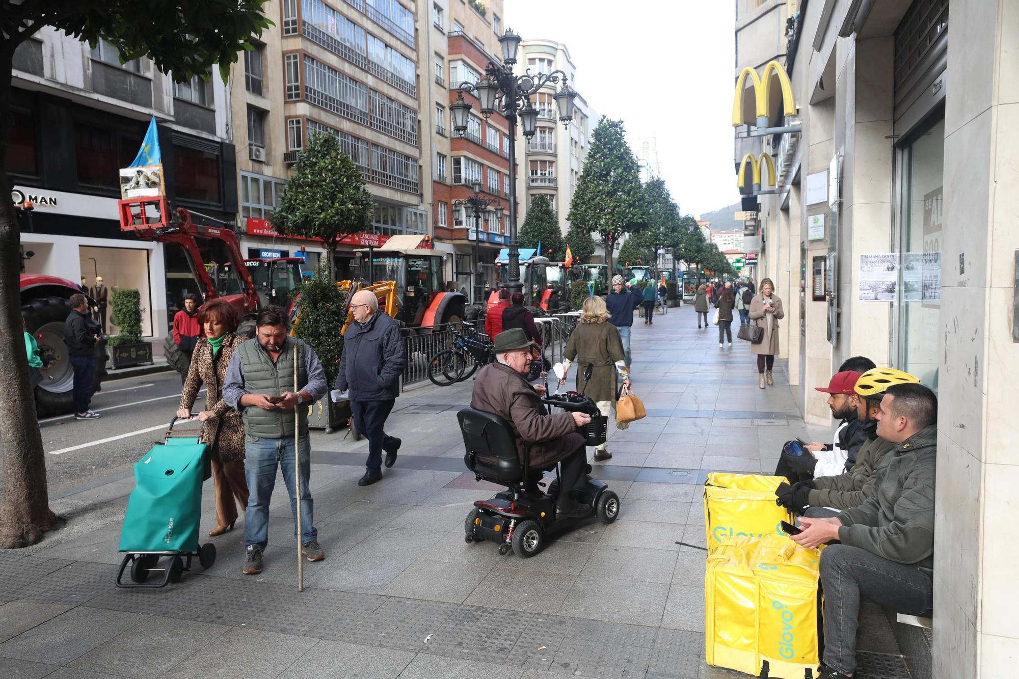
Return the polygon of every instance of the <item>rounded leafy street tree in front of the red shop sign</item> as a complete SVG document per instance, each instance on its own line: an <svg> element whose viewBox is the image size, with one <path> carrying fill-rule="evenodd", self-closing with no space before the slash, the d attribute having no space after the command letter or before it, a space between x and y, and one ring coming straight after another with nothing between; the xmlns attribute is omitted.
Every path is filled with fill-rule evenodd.
<svg viewBox="0 0 1019 679"><path fill-rule="evenodd" d="M332 276L336 246L371 226L374 206L361 170L342 152L336 136L318 134L298 156L297 170L269 219L280 233L321 241Z"/></svg>

